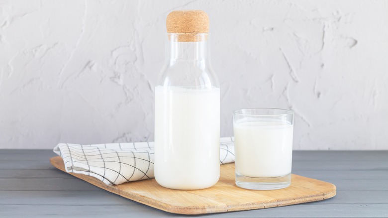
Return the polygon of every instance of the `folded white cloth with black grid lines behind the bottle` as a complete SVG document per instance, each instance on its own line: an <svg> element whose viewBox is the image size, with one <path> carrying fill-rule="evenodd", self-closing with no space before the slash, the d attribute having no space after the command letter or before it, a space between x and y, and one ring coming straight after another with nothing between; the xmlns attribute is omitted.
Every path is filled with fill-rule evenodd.
<svg viewBox="0 0 388 218"><path fill-rule="evenodd" d="M66 172L93 176L106 185L154 177L154 142L60 143L54 152L63 158ZM220 163L231 162L234 162L233 137L221 138Z"/></svg>

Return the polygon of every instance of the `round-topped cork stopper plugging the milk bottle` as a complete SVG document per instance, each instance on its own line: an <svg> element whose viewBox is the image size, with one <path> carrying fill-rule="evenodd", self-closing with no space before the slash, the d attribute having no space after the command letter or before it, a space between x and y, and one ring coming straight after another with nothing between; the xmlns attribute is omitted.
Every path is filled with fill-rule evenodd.
<svg viewBox="0 0 388 218"><path fill-rule="evenodd" d="M197 33L209 32L209 17L202 10L174 10L167 15L168 33L179 33L177 41L202 41Z"/></svg>

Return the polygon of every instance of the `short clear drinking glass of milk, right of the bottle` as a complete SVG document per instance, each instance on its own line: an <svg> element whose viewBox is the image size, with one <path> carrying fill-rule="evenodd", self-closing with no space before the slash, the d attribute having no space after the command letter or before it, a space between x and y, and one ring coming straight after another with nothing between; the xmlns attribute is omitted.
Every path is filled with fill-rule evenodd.
<svg viewBox="0 0 388 218"><path fill-rule="evenodd" d="M236 185L274 190L291 185L293 111L239 109L233 113Z"/></svg>

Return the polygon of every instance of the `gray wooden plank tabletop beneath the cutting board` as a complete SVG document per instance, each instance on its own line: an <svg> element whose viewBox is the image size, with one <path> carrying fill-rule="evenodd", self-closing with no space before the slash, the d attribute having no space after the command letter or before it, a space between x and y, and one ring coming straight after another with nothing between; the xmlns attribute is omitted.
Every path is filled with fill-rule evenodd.
<svg viewBox="0 0 388 218"><path fill-rule="evenodd" d="M50 150L0 150L0 217L188 217L63 173L50 165L53 156ZM292 173L335 184L337 196L198 217L388 217L388 151L294 151Z"/></svg>

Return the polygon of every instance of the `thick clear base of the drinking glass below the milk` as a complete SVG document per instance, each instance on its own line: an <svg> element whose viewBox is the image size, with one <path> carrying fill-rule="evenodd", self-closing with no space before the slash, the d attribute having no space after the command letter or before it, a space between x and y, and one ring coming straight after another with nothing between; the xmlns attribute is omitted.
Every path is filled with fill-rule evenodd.
<svg viewBox="0 0 388 218"><path fill-rule="evenodd" d="M255 178L236 173L236 185L244 189L275 190L284 189L291 185L291 173L272 178Z"/></svg>

